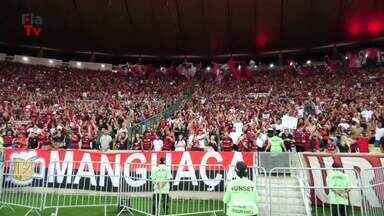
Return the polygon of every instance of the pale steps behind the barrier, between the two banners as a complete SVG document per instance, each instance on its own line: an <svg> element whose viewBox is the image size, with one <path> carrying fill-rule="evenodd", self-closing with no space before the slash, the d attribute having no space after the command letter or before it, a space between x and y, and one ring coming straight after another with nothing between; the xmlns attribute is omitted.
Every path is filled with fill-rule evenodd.
<svg viewBox="0 0 384 216"><path fill-rule="evenodd" d="M269 215L269 202L272 203L271 216L305 216L307 215L299 182L289 176L276 176L270 179L258 179L259 206L261 215ZM269 197L271 196L271 200Z"/></svg>

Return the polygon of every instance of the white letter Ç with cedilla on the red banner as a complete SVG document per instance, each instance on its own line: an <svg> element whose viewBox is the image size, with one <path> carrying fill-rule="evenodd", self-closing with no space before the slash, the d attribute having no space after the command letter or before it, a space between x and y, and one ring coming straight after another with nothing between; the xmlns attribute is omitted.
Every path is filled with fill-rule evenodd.
<svg viewBox="0 0 384 216"><path fill-rule="evenodd" d="M207 177L207 162L209 158L215 158L219 164L223 162L223 157L221 156L221 154L215 151L209 151L205 153L203 158L201 159L200 176L203 179L204 184L209 186L209 188L207 189L208 191L214 190L214 188L220 184L220 181L223 178L223 175L221 175L220 173L217 174L214 179L209 179ZM215 165L209 168L210 170L213 170L214 173L220 171L220 167L217 167Z"/></svg>

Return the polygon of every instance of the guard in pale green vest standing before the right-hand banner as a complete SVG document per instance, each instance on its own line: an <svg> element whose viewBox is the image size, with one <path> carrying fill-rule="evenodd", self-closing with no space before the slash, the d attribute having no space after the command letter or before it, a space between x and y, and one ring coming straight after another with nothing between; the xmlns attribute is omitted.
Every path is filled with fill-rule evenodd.
<svg viewBox="0 0 384 216"><path fill-rule="evenodd" d="M338 162L334 162L332 167L334 169L329 172L326 179L329 188L328 199L331 204L332 215L346 216L350 182L348 176L340 170L342 166Z"/></svg>

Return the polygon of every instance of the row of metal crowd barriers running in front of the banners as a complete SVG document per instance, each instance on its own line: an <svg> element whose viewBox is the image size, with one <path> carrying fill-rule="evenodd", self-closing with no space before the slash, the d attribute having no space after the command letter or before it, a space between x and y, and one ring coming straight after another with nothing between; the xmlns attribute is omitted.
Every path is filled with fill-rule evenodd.
<svg viewBox="0 0 384 216"><path fill-rule="evenodd" d="M264 155L262 157L275 157ZM261 158L261 157L260 157ZM259 158L259 159L260 159ZM309 168L302 157L282 154L280 164L290 167L265 169L249 166L248 176L260 197L261 215L334 215L336 208L348 215L384 215L384 170L382 167L341 168L349 179L347 205L330 205L326 178L334 168ZM285 158L285 161L283 159ZM153 161L152 161L153 162ZM260 162L260 161L259 161ZM214 215L223 214L225 185L235 178L233 165L171 164L172 178L167 195L154 193L151 178L155 163L102 161L10 160L2 163L0 209L21 207L26 215L50 211L59 215L64 208L118 208L114 215ZM271 163L276 163L275 161ZM264 161L264 165L268 164ZM296 167L294 167L296 166ZM50 168L49 168L50 167ZM324 176L322 185L314 176ZM3 209L4 210L4 209ZM12 213L10 213L12 215Z"/></svg>

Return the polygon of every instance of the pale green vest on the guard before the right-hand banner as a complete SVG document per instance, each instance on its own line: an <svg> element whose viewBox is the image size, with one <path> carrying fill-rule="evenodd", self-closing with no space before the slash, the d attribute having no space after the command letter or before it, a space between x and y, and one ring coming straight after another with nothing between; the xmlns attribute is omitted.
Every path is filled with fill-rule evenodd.
<svg viewBox="0 0 384 216"><path fill-rule="evenodd" d="M327 186L329 188L328 198L330 204L348 205L346 190L349 187L349 180L345 173L339 170L331 171L327 176ZM332 188L334 189L332 190Z"/></svg>

